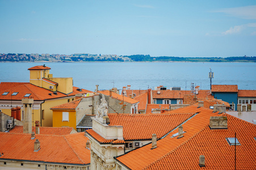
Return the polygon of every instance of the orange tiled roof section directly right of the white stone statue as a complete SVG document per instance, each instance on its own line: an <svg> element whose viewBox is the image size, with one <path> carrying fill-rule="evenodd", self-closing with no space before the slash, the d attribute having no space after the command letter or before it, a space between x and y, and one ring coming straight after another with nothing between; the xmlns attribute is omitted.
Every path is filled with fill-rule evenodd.
<svg viewBox="0 0 256 170"><path fill-rule="evenodd" d="M124 140L151 139L163 137L194 113L181 114L108 114L110 126L123 126Z"/></svg>

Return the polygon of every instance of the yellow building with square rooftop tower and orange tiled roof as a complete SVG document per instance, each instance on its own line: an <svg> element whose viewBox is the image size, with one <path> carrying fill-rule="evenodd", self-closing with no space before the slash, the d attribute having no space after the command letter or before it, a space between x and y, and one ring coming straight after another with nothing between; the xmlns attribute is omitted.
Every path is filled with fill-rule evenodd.
<svg viewBox="0 0 256 170"><path fill-rule="evenodd" d="M51 68L35 66L30 69L30 83L1 82L0 111L11 116L11 108L21 107L22 99L33 99L32 123L40 121L41 126L52 126L50 108L75 100L76 94L87 94L91 91L73 87L73 78L53 78Z"/></svg>

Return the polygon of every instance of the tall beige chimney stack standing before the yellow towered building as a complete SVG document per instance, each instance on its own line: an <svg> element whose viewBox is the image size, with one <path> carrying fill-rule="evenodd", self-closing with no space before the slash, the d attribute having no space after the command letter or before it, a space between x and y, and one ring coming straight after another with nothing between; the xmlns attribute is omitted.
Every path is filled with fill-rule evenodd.
<svg viewBox="0 0 256 170"><path fill-rule="evenodd" d="M22 99L24 118L23 133L32 133L32 104L33 99Z"/></svg>

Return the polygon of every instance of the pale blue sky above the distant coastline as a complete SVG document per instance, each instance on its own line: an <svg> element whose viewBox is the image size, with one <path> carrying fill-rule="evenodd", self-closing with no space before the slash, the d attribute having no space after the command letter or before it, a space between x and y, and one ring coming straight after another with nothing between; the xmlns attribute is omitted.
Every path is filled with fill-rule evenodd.
<svg viewBox="0 0 256 170"><path fill-rule="evenodd" d="M0 0L0 53L256 56L256 1Z"/></svg>

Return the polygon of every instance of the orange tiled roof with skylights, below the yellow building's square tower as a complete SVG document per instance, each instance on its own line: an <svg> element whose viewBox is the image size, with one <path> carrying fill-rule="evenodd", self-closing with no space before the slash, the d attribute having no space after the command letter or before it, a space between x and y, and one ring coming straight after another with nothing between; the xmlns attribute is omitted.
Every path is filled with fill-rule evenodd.
<svg viewBox="0 0 256 170"><path fill-rule="evenodd" d="M7 95L2 95L4 92L9 92ZM17 95L11 95L13 92L18 92ZM0 83L0 100L22 100L24 95L31 94L29 98L33 100L47 100L47 99L56 99L66 96L74 96L75 94L85 94L91 92L89 90L77 91L77 87L73 87L73 92L66 95L58 92L53 94L51 90L35 86L31 83L13 83L13 82L1 82ZM49 95L51 94L51 95Z"/></svg>

